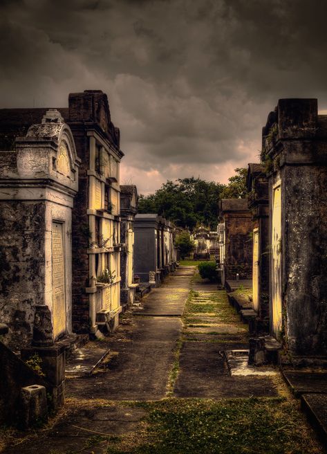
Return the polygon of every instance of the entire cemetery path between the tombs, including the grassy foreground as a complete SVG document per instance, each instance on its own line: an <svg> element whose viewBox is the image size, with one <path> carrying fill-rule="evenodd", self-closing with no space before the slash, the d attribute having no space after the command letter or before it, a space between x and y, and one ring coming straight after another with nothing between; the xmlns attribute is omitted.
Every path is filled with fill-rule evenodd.
<svg viewBox="0 0 327 454"><path fill-rule="evenodd" d="M180 266L111 338L90 343L109 348L102 365L71 374L65 408L3 452L323 453L277 370L248 375L231 356L247 349L247 327L225 290L194 272Z"/></svg>

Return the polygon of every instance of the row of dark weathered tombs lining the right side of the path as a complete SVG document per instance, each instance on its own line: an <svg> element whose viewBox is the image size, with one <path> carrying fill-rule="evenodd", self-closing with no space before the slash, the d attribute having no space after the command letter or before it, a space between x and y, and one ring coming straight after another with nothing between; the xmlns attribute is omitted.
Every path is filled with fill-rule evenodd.
<svg viewBox="0 0 327 454"><path fill-rule="evenodd" d="M327 116L318 115L315 99L279 100L262 141L262 163L248 167L248 199L221 201L221 277L229 290L252 279L252 308L240 306L259 336L252 341L254 361L274 348L272 336L281 361L321 364L327 356Z"/></svg>

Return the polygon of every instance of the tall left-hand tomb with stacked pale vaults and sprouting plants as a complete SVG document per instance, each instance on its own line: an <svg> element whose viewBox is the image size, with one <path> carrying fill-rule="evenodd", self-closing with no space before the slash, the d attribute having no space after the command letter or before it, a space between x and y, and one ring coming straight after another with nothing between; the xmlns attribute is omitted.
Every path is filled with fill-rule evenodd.
<svg viewBox="0 0 327 454"><path fill-rule="evenodd" d="M67 122L81 158L73 210L73 329L102 336L120 305L120 130L100 90L70 93Z"/></svg>

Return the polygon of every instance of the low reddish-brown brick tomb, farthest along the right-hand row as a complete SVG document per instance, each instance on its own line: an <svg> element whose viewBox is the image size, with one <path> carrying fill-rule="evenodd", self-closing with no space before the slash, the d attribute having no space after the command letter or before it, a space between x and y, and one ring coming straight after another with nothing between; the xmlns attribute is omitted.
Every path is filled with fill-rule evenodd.
<svg viewBox="0 0 327 454"><path fill-rule="evenodd" d="M247 199L219 201L220 237L223 237L220 260L223 264L222 283L225 280L252 278L252 215ZM223 235L222 235L223 232Z"/></svg>

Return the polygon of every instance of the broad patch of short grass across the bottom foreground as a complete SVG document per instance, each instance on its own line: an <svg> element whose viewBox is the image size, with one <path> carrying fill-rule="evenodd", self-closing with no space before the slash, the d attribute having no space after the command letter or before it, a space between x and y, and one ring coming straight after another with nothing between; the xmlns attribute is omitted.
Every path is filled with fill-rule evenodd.
<svg viewBox="0 0 327 454"><path fill-rule="evenodd" d="M135 403L147 410L134 444L124 437L107 454L318 454L297 403L274 399L165 399Z"/></svg>

